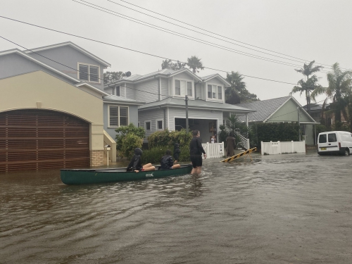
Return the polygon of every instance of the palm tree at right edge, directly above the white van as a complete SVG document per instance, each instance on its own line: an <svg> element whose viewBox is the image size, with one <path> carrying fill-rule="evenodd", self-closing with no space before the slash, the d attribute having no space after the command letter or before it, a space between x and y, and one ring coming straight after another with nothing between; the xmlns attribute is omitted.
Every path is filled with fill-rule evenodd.
<svg viewBox="0 0 352 264"><path fill-rule="evenodd" d="M326 94L327 98L332 99L332 109L335 115L335 124L341 122L341 112L346 115L347 96L352 93L352 71L342 71L339 63L332 65L332 72L327 73L328 87L320 87L312 92L312 99L318 94Z"/></svg>

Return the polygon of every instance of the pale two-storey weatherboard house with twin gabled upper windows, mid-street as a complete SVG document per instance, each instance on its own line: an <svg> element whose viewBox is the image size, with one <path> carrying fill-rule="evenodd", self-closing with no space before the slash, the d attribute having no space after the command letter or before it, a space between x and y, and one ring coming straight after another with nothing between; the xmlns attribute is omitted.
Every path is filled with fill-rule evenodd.
<svg viewBox="0 0 352 264"><path fill-rule="evenodd" d="M126 99L144 101L138 108L138 125L146 130L146 137L158 130L186 128L187 95L189 129L200 130L203 143L219 131L230 114L253 113L250 108L225 103L225 88L230 87L221 75L199 77L187 68L164 69L147 75L130 77L108 83L104 91ZM111 108L109 118L112 120ZM145 139L146 141L146 139Z"/></svg>

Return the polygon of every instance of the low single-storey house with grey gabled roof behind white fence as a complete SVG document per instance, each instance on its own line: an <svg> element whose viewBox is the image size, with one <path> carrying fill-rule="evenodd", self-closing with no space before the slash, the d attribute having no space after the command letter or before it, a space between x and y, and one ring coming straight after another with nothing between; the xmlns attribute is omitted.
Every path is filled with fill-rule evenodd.
<svg viewBox="0 0 352 264"><path fill-rule="evenodd" d="M313 125L320 123L316 122L293 96L239 103L237 106L256 110L248 115L249 125L257 122L298 122L299 109L302 140L305 140L307 145L315 144ZM246 122L244 117L239 117L239 121Z"/></svg>

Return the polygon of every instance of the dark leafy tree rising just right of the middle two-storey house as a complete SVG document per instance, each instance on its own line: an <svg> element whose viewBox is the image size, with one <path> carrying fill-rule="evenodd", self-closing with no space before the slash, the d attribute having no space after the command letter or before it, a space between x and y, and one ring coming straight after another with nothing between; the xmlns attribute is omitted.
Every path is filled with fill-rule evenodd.
<svg viewBox="0 0 352 264"><path fill-rule="evenodd" d="M246 89L246 83L243 81L244 77L239 72L227 73L226 80L230 82L231 87L225 90L226 103L248 103L251 101L258 101L256 94L251 94Z"/></svg>

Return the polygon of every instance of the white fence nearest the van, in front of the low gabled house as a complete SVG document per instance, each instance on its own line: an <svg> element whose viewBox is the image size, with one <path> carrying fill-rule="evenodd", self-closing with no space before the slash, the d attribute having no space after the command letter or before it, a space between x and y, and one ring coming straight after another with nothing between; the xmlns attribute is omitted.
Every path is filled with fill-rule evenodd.
<svg viewBox="0 0 352 264"><path fill-rule="evenodd" d="M306 142L261 142L262 155L282 153L306 153Z"/></svg>

